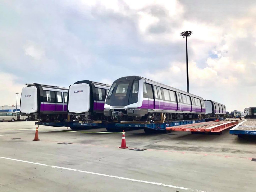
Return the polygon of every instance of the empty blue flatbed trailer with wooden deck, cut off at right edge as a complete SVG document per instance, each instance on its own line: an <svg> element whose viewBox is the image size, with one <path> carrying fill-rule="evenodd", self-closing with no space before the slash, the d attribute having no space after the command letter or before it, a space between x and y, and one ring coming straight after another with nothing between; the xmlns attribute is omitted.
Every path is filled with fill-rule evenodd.
<svg viewBox="0 0 256 192"><path fill-rule="evenodd" d="M229 130L232 135L256 135L256 119L247 119Z"/></svg>

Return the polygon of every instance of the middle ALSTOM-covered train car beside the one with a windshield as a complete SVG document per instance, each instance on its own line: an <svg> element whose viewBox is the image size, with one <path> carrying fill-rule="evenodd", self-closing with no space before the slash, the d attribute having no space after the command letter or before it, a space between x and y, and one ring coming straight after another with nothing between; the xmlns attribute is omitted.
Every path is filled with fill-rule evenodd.
<svg viewBox="0 0 256 192"><path fill-rule="evenodd" d="M68 112L72 120L104 120L103 115L106 94L110 85L93 81L77 81L69 86Z"/></svg>

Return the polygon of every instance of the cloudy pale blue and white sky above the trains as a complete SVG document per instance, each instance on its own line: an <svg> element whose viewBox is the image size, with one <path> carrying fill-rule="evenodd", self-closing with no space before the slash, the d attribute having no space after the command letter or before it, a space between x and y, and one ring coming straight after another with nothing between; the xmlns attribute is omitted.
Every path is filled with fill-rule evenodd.
<svg viewBox="0 0 256 192"><path fill-rule="evenodd" d="M255 1L0 2L0 106L26 83L138 75L227 106L256 106ZM19 98L18 98L19 100Z"/></svg>

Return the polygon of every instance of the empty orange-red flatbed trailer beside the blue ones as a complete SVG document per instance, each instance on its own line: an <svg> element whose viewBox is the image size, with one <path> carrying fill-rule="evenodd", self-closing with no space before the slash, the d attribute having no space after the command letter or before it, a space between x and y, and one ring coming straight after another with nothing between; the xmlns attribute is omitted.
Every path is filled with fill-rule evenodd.
<svg viewBox="0 0 256 192"><path fill-rule="evenodd" d="M202 122L195 123L190 125L180 125L176 127L166 127L166 130L169 131L190 131L191 133L196 132L212 132L219 133L225 129L233 127L237 125L239 121L210 121L210 122Z"/></svg>

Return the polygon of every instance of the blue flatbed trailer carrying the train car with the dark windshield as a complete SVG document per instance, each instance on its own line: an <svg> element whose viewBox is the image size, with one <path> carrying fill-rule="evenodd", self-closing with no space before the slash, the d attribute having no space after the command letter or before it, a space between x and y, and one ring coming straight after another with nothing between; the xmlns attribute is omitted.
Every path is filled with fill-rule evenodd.
<svg viewBox="0 0 256 192"><path fill-rule="evenodd" d="M193 123L205 122L205 119L193 119L193 120L175 120L175 121L167 121L167 122L136 122L136 121L123 121L120 123L116 123L116 129L144 129L145 132L150 132L152 130L155 131L165 131L166 127L170 126L178 126L178 125L187 125Z"/></svg>

